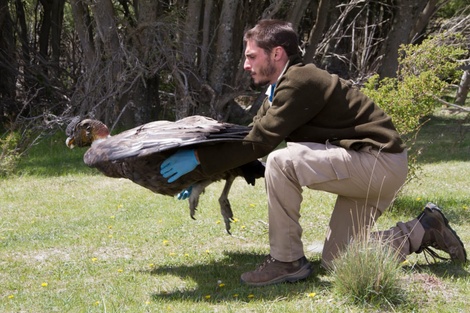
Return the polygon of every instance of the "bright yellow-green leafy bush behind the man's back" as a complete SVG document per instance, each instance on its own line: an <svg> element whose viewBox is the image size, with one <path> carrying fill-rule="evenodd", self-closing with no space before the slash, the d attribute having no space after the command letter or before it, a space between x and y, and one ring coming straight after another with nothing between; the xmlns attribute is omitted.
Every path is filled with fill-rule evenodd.
<svg viewBox="0 0 470 313"><path fill-rule="evenodd" d="M393 119L398 132L412 137L459 78L457 60L465 55L460 36L437 36L401 47L397 77L372 76L362 91Z"/></svg>

